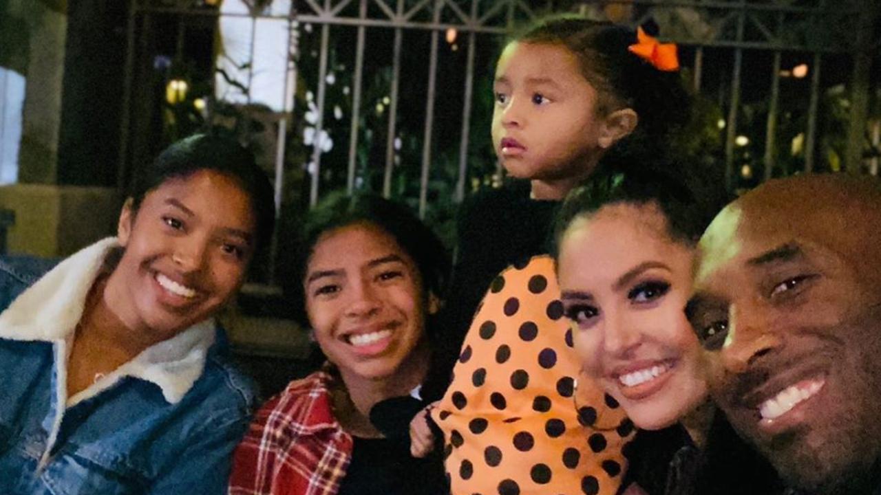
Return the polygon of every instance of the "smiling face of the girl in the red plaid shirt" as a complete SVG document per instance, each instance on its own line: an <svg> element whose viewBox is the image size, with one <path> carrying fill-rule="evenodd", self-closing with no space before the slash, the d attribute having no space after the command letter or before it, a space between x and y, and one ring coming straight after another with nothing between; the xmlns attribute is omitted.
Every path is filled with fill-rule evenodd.
<svg viewBox="0 0 881 495"><path fill-rule="evenodd" d="M425 371L418 350L433 308L416 263L389 233L368 223L323 233L303 284L315 340L344 380L407 380L403 374Z"/></svg>

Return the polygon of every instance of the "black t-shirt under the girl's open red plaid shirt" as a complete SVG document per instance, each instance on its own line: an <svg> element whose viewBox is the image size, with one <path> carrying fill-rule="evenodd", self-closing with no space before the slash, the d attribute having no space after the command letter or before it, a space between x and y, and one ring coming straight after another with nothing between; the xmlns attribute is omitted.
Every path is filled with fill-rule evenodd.
<svg viewBox="0 0 881 495"><path fill-rule="evenodd" d="M339 495L441 495L448 493L441 463L429 456L410 454L409 438L354 437L352 461L340 484Z"/></svg>

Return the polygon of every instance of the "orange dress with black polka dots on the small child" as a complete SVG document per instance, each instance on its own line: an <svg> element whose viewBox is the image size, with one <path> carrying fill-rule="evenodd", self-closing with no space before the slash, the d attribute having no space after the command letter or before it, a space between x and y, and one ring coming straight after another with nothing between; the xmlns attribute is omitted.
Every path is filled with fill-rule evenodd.
<svg viewBox="0 0 881 495"><path fill-rule="evenodd" d="M492 282L432 410L454 495L613 495L633 424L579 378L548 255Z"/></svg>

